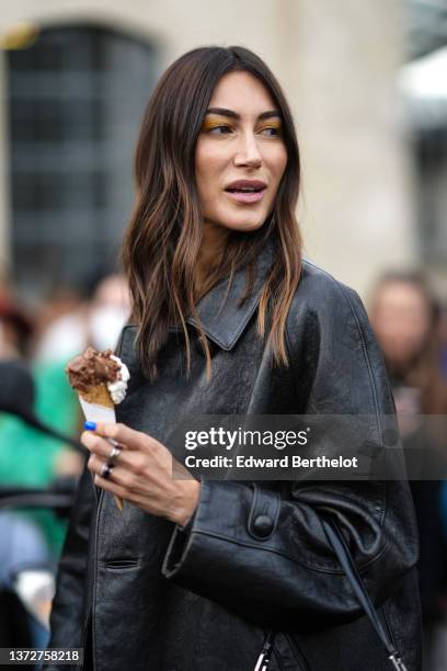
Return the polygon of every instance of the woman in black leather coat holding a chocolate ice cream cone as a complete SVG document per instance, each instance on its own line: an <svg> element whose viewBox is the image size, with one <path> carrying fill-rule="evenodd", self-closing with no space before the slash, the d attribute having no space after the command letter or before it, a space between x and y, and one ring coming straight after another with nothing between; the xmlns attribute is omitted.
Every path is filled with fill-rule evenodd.
<svg viewBox="0 0 447 671"><path fill-rule="evenodd" d="M91 456L51 613L50 646L91 633L96 670L252 671L271 629L272 671L386 669L321 505L419 669L406 482L171 476L168 436L188 417L393 412L357 294L301 260L299 178L289 107L252 52L197 48L164 72L124 244L134 314L117 354L130 387L117 427L82 434ZM122 452L104 479L111 437Z"/></svg>

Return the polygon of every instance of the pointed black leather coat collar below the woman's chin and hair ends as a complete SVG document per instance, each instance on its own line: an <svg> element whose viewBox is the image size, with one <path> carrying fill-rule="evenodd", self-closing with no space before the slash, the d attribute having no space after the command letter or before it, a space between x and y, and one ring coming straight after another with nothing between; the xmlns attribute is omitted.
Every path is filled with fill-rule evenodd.
<svg viewBox="0 0 447 671"><path fill-rule="evenodd" d="M238 302L245 289L244 269L234 273L229 291L228 280L225 278L199 300L197 312L204 331L222 350L229 351L234 346L250 321L259 305L262 287L273 260L274 246L271 240L267 240L257 258L253 291L241 307L238 307ZM188 317L186 321L196 326L192 317Z"/></svg>

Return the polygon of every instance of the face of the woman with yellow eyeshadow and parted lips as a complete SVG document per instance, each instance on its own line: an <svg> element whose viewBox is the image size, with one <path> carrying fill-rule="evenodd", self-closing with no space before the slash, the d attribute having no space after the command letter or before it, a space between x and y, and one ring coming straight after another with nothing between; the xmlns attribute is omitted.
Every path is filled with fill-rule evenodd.
<svg viewBox="0 0 447 671"><path fill-rule="evenodd" d="M286 163L280 113L264 84L250 72L225 75L214 90L195 155L205 225L260 228L273 209ZM234 184L238 180L244 182Z"/></svg>

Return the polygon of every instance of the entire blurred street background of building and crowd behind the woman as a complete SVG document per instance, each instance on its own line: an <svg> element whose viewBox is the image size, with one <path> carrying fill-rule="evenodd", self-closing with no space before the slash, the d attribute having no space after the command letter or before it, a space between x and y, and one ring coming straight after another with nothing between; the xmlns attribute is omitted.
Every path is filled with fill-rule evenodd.
<svg viewBox="0 0 447 671"><path fill-rule="evenodd" d="M447 0L19 0L0 16L0 362L26 368L33 417L79 436L64 367L87 344L113 348L128 316L117 255L144 109L172 60L209 44L247 46L279 79L301 149L305 253L363 297L398 411L447 414ZM9 494L76 481L83 458L0 412ZM425 670L447 670L447 491L412 491ZM42 642L50 585L18 585L26 567L54 575L69 508L7 503L0 585Z"/></svg>

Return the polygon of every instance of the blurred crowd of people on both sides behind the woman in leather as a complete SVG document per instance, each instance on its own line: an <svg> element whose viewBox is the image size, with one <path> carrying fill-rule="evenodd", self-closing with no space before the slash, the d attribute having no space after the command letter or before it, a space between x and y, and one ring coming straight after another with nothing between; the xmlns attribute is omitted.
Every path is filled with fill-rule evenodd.
<svg viewBox="0 0 447 671"><path fill-rule="evenodd" d="M405 444L414 431L411 418L447 416L447 308L421 272L383 274L371 289L367 308ZM89 344L113 349L129 311L121 274L102 276L83 294L59 288L33 315L11 291L0 288L0 361L22 360L30 366L36 389L33 411L42 421L79 435L82 418L65 366ZM442 450L447 450L445 437L440 436ZM427 435L427 444L429 440ZM82 456L62 441L0 411L0 487L46 487L58 476L79 474L82 465ZM425 669L437 671L447 669L447 482L412 480L411 489L421 543ZM28 511L28 515L30 534L41 534L46 550L57 557L66 522L49 511Z"/></svg>

